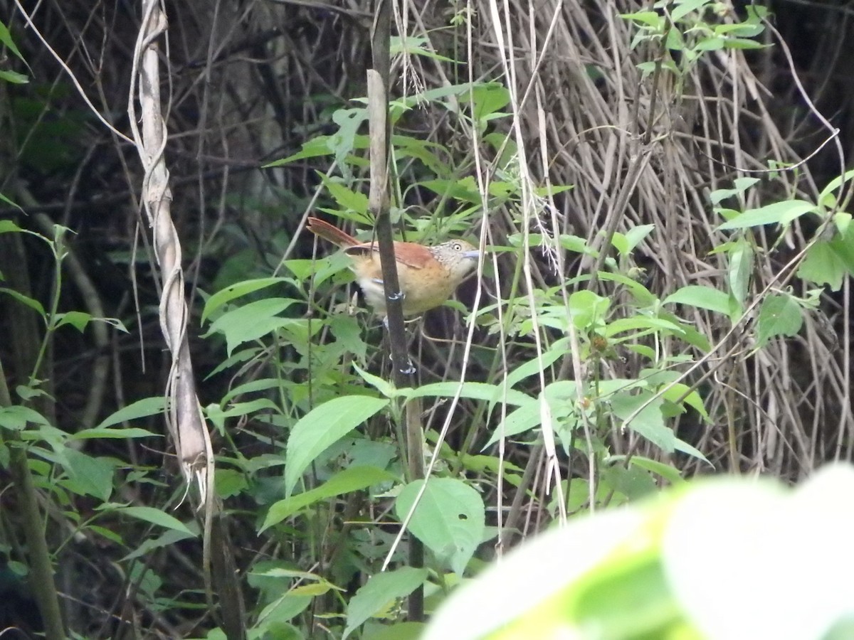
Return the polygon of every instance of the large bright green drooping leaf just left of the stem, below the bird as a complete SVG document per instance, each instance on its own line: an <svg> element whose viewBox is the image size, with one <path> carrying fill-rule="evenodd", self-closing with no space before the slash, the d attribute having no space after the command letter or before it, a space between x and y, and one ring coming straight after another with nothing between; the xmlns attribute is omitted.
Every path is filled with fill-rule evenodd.
<svg viewBox="0 0 854 640"><path fill-rule="evenodd" d="M285 452L284 495L290 497L308 465L330 445L383 410L387 399L344 396L309 411L291 429Z"/></svg>

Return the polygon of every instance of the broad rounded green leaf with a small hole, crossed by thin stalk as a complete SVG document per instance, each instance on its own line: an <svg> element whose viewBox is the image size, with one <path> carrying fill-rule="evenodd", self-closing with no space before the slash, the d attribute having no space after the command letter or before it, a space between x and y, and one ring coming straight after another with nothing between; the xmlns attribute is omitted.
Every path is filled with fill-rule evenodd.
<svg viewBox="0 0 854 640"><path fill-rule="evenodd" d="M483 539L483 499L462 480L416 480L403 487L395 501L395 513L401 521L412 509L424 482L427 482L424 495L408 529L433 552L438 561L462 576Z"/></svg>

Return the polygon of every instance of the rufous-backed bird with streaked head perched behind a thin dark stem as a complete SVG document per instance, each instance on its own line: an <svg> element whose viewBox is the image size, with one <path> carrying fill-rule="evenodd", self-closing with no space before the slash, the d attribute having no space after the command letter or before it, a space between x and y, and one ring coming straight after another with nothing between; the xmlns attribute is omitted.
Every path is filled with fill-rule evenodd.
<svg viewBox="0 0 854 640"><path fill-rule="evenodd" d="M361 242L320 218L308 218L307 230L338 245L352 260L366 302L386 314L383 270L376 241ZM480 252L464 240L451 240L432 247L418 242L395 241L397 277L403 294L403 315L417 316L441 306L459 284L477 268Z"/></svg>

